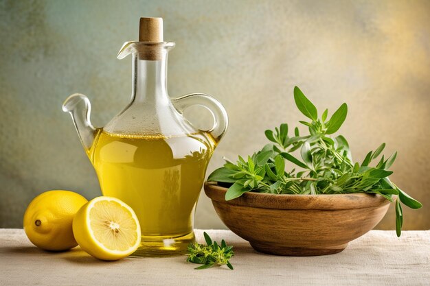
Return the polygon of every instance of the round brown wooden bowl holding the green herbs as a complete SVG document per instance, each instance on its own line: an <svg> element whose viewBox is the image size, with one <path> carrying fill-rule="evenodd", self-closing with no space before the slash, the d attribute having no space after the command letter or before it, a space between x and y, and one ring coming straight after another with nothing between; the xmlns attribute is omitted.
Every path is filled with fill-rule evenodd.
<svg viewBox="0 0 430 286"><path fill-rule="evenodd" d="M225 201L227 188L205 182L216 213L236 235L260 252L313 256L334 254L374 228L389 201L366 193L273 195L245 193Z"/></svg>

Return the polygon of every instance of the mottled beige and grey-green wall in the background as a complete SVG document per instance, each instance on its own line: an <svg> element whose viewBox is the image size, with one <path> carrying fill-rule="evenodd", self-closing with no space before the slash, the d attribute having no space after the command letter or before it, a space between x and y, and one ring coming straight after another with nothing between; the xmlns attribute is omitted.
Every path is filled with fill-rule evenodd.
<svg viewBox="0 0 430 286"><path fill-rule="evenodd" d="M89 95L96 126L128 102L139 16L162 16L169 90L205 92L229 112L222 156L249 154L263 131L302 117L293 86L319 110L347 102L341 129L354 158L387 143L392 179L425 207L405 210L405 229L430 228L429 1L0 1L0 227L21 227L25 207L48 189L100 195L61 104ZM194 108L190 117L207 115ZM196 227L223 224L201 195ZM394 209L380 224L394 228Z"/></svg>

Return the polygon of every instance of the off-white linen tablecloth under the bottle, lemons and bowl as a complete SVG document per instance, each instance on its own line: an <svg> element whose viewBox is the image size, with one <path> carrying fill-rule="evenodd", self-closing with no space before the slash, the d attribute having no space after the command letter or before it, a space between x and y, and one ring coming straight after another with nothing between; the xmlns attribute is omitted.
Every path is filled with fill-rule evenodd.
<svg viewBox="0 0 430 286"><path fill-rule="evenodd" d="M256 252L229 230L206 230L234 246L234 270L194 270L185 256L105 262L79 247L51 253L21 229L0 229L0 285L430 285L430 230L372 230L343 252L278 257ZM196 230L203 242L203 230Z"/></svg>

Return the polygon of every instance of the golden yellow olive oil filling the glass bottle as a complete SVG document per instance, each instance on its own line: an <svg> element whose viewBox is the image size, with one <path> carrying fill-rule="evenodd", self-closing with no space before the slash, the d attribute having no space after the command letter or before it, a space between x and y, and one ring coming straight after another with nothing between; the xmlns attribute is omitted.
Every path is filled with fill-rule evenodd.
<svg viewBox="0 0 430 286"><path fill-rule="evenodd" d="M163 137L99 130L88 154L103 195L122 200L139 219L137 256L180 254L194 239L194 208L214 147L203 132Z"/></svg>

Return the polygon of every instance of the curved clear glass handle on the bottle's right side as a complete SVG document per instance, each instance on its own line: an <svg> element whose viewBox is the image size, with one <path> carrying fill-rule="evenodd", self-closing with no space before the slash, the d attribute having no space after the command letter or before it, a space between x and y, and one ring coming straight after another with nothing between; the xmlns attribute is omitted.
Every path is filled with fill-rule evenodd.
<svg viewBox="0 0 430 286"><path fill-rule="evenodd" d="M225 111L223 104L218 102L218 100L211 95L206 95L204 93L183 95L181 97L172 98L172 104L181 114L183 113L183 110L193 105L207 108L207 110L212 113L212 117L214 117L214 126L209 130L202 131L210 133L217 142L220 141L221 137L225 134L225 131L227 131L229 122L227 111Z"/></svg>

